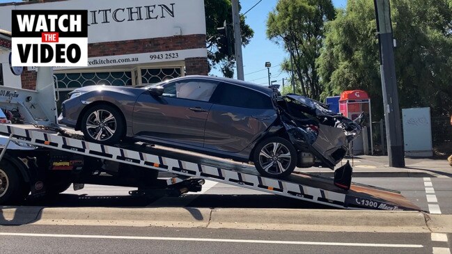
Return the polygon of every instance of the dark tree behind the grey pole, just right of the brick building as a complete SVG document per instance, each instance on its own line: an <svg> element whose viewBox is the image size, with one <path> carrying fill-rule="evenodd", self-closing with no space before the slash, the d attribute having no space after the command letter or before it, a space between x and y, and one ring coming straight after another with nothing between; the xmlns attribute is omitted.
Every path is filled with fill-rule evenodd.
<svg viewBox="0 0 452 254"><path fill-rule="evenodd" d="M219 51L221 38L217 30L217 28L224 26L225 20L226 24L228 24L228 29L232 29L233 16L231 0L205 0L204 5L210 70L219 67L224 77L233 77L235 56ZM245 23L244 16L240 17L240 29L242 30L242 45L246 46L249 44L251 38L253 38L254 31Z"/></svg>

